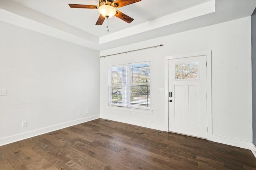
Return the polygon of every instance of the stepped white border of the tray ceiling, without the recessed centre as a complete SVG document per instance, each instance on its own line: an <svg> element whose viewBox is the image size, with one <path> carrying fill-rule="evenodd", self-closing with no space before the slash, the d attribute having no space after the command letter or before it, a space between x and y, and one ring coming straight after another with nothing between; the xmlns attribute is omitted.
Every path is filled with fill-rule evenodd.
<svg viewBox="0 0 256 170"><path fill-rule="evenodd" d="M96 51L180 33L250 16L255 0L207 0L186 10L172 13L134 27L98 37L12 0L0 0L0 21L37 31Z"/></svg>

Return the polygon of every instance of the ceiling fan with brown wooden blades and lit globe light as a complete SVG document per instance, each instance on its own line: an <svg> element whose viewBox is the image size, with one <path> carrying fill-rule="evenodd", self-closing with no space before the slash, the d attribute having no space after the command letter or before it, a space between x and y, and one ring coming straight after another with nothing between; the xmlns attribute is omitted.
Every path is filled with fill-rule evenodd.
<svg viewBox="0 0 256 170"><path fill-rule="evenodd" d="M126 14L116 10L116 8L120 8L122 6L130 5L135 2L139 2L141 0L99 0L99 5L79 5L79 4L68 4L70 8L87 8L87 9L98 9L100 12L100 17L96 22L96 25L102 25L105 18L111 18L112 16L116 16L121 20L126 21L127 23L131 23L134 19L127 16Z"/></svg>

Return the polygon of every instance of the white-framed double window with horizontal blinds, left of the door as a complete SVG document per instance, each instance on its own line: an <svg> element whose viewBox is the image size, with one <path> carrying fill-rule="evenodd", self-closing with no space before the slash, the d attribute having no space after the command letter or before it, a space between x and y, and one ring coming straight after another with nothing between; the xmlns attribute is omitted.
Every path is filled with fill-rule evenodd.
<svg viewBox="0 0 256 170"><path fill-rule="evenodd" d="M109 68L108 104L150 108L150 63Z"/></svg>

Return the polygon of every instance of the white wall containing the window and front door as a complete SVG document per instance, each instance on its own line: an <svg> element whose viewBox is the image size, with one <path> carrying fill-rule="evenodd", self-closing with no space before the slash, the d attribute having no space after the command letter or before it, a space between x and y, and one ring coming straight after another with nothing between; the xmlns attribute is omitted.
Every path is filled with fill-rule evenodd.
<svg viewBox="0 0 256 170"><path fill-rule="evenodd" d="M101 56L163 44L163 47L100 59L100 117L165 130L164 100L166 57L212 51L212 132L208 139L248 148L252 142L250 17L152 39L116 49ZM108 66L150 61L152 113L107 106ZM132 115L130 115L132 111Z"/></svg>

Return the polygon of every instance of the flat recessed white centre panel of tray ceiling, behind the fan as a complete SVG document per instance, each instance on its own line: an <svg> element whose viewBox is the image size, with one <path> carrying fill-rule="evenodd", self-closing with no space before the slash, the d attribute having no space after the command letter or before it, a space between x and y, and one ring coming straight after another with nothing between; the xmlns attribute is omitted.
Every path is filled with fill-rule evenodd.
<svg viewBox="0 0 256 170"><path fill-rule="evenodd" d="M95 25L99 17L98 10L70 8L68 4L98 5L98 0L12 0L50 16L56 20L72 25L92 35L101 37L120 31L168 14L202 4L210 0L142 0L119 8L120 12L134 18L132 23L126 23L116 17L109 20L110 30L107 32L106 21L102 26ZM155 12L154 8L156 9Z"/></svg>

